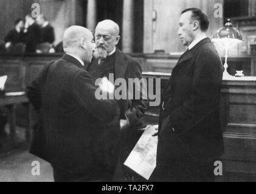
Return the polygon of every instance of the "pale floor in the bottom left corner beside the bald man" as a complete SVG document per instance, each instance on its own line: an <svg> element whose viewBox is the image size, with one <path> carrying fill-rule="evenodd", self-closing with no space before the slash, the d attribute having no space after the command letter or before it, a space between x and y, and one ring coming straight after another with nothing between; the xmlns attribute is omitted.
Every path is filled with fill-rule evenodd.
<svg viewBox="0 0 256 194"><path fill-rule="evenodd" d="M7 126L8 131L8 126ZM24 141L24 129L18 128L18 144L10 149L8 142L0 149L0 182L52 182L52 167L40 158L30 155ZM32 175L32 162L40 164L40 176Z"/></svg>

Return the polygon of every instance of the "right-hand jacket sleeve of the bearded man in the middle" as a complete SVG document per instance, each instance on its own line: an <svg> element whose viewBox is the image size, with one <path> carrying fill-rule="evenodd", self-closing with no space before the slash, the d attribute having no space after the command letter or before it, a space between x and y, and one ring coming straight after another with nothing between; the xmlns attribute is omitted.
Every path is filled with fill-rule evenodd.
<svg viewBox="0 0 256 194"><path fill-rule="evenodd" d="M139 64L137 62L131 62L128 65L128 69L126 70L127 75L126 79L128 78L138 78L142 79L142 70ZM148 99L147 99L147 89L145 87L138 87L139 85L134 84L134 91L133 91L133 100L131 108L126 110L125 116L126 119L128 119L128 122L130 123L130 126L133 127L136 125L136 122L138 119L140 119L142 116L144 116L144 113L146 112L148 108ZM136 91L140 93L140 99L136 99ZM145 97L145 98L143 98Z"/></svg>

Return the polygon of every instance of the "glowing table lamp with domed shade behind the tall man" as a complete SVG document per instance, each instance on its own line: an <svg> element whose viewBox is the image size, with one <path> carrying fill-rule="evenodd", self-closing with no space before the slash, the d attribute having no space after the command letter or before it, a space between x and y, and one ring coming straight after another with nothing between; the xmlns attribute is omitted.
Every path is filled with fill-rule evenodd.
<svg viewBox="0 0 256 194"><path fill-rule="evenodd" d="M230 22L230 19L227 19L225 27L222 27L217 32L215 32L212 40L218 42L222 47L224 47L226 51L223 78L232 77L227 72L227 67L229 67L227 65L227 54L229 52L230 47L239 42L243 42L243 37L241 36L237 28L233 27L233 24L232 22Z"/></svg>

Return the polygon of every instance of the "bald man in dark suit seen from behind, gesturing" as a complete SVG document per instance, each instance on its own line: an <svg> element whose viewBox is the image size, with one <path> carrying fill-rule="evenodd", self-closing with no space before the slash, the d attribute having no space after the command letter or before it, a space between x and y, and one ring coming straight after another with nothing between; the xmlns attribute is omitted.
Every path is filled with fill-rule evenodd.
<svg viewBox="0 0 256 194"><path fill-rule="evenodd" d="M92 59L92 33L67 28L63 47L66 54L27 89L40 113L30 153L52 164L55 181L106 181L104 125L118 117L116 102L95 98L95 82L84 68Z"/></svg>

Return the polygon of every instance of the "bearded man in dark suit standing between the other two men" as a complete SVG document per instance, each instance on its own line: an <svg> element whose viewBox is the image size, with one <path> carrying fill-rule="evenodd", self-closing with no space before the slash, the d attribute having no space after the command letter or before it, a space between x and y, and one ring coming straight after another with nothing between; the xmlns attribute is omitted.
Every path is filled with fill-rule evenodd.
<svg viewBox="0 0 256 194"><path fill-rule="evenodd" d="M112 74L114 77L113 81L122 78L128 83L129 78L142 78L142 69L140 65L131 58L131 56L126 55L116 48L119 39L119 25L117 25L116 22L111 20L99 22L95 28L95 57L87 67L88 72L91 73L95 79L103 77L110 79L109 77ZM121 127L121 130L126 129L125 133L123 133L120 138L120 146L116 146L118 143L113 141L115 139L113 135L108 136L107 139L107 147L109 153L112 154L110 163L112 164L113 173L120 152L119 148L121 147L119 166L117 167L120 176L116 176L118 178L114 179L114 181L132 179L131 175L128 175L130 170L123 166L123 162L125 162L125 159L128 157L141 135L136 129L145 127L145 125L142 124L142 121L140 121L140 118L144 115L148 106L147 98L143 99L143 93L145 93L144 89L138 90L140 99L121 99L118 101L120 121L115 121L106 125L107 129L115 129L119 127Z"/></svg>

